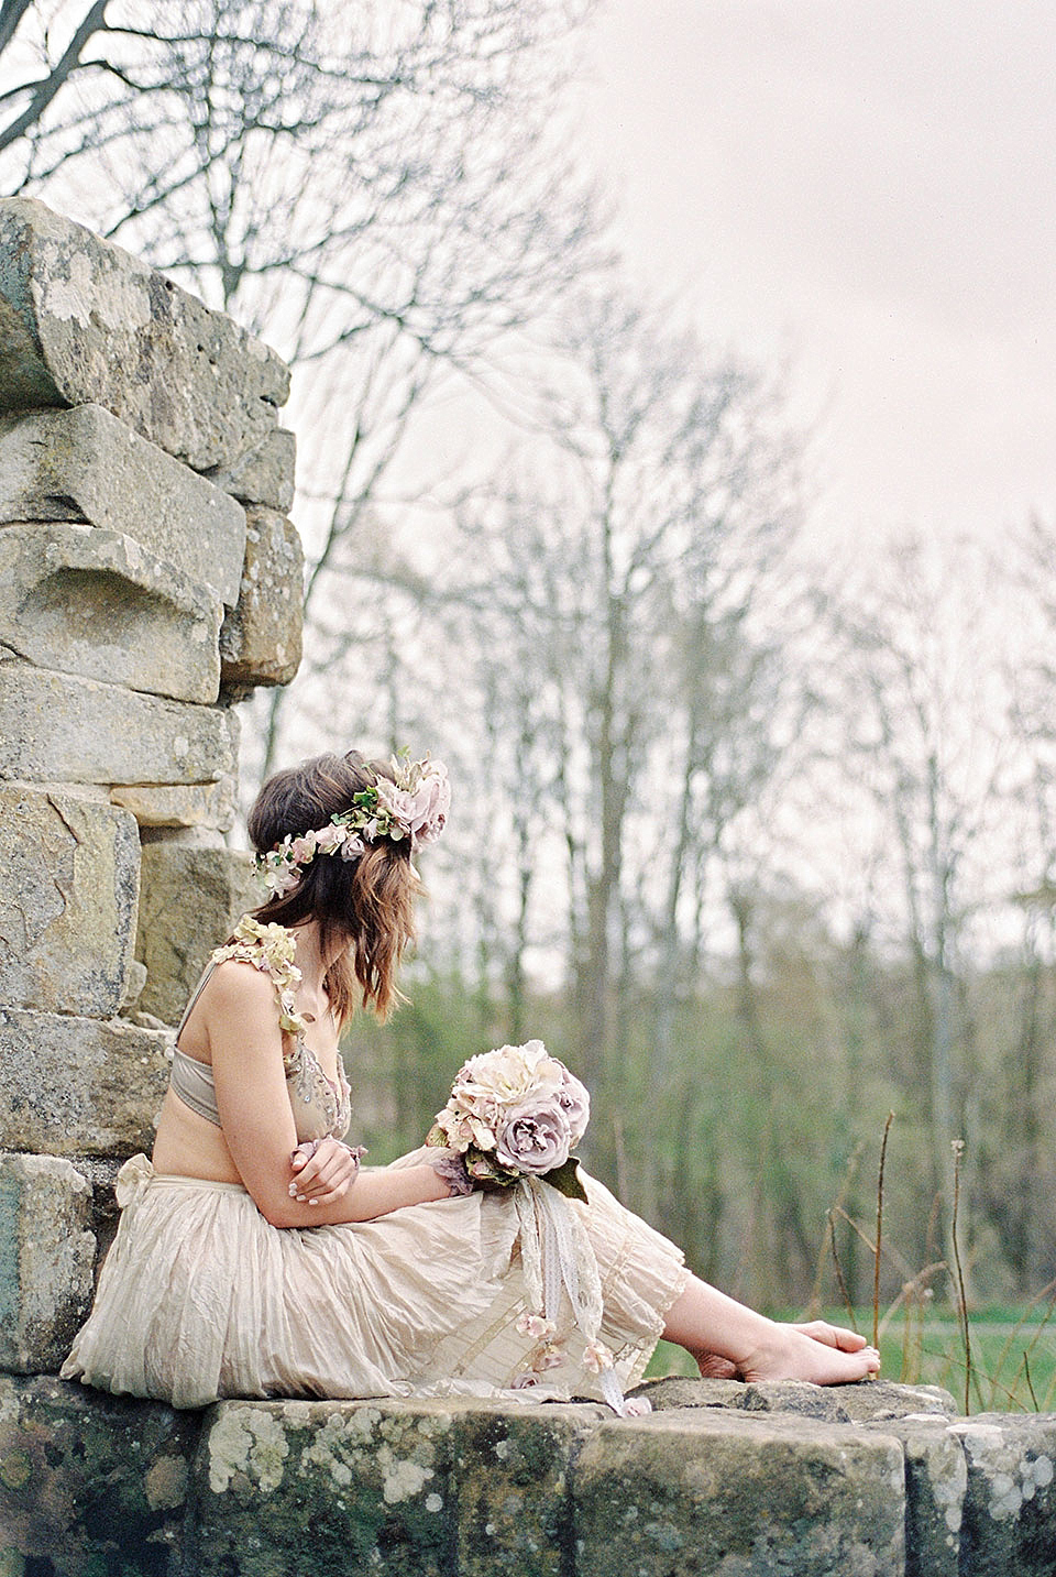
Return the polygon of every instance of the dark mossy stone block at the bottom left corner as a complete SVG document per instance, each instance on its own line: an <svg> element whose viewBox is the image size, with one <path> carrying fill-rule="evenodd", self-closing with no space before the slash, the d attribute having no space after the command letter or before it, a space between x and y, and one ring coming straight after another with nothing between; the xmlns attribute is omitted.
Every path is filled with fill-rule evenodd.
<svg viewBox="0 0 1056 1577"><path fill-rule="evenodd" d="M165 1577L180 1563L199 1415L0 1377L0 1572Z"/></svg>

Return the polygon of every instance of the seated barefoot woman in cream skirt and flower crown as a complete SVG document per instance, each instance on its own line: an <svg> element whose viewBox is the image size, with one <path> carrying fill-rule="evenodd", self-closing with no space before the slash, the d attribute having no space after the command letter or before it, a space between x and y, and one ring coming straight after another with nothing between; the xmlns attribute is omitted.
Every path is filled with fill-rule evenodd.
<svg viewBox="0 0 1056 1577"><path fill-rule="evenodd" d="M588 1203L567 1208L601 1281L594 1342L567 1299L556 1320L533 1306L514 1191L473 1189L446 1150L359 1170L342 1143L337 1041L356 1005L385 1017L397 998L419 891L411 855L446 809L446 773L429 759L320 755L265 784L249 833L268 902L213 954L188 1006L153 1164L137 1156L118 1175L121 1222L63 1377L177 1407L612 1399L660 1336L706 1374L875 1374L878 1355L854 1333L779 1325L690 1276L593 1178Z"/></svg>

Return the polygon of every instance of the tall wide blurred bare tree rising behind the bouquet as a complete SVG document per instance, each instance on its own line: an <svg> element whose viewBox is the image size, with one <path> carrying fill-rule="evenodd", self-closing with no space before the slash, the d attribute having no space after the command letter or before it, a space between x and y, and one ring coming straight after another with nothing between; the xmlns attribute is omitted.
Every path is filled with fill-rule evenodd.
<svg viewBox="0 0 1056 1577"><path fill-rule="evenodd" d="M657 970L667 1006L690 984L709 858L771 771L758 601L794 513L794 446L758 374L659 314L613 292L571 322L550 431L465 500L441 558L459 583L432 609L452 632L449 727L479 741L473 820L501 855L479 880L509 1033L534 953L567 979L566 1050L599 1090L594 1161L615 1170L605 1112L627 1094L638 997L648 1022ZM514 880L496 888L496 867ZM651 1068L664 1079L670 1058Z"/></svg>

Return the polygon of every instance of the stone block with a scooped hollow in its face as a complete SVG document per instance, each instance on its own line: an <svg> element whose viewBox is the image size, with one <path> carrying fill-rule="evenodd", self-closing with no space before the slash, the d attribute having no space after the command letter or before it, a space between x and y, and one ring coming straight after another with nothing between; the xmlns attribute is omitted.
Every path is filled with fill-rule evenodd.
<svg viewBox="0 0 1056 1577"><path fill-rule="evenodd" d="M129 536L0 528L0 651L173 700L214 702L224 609Z"/></svg>

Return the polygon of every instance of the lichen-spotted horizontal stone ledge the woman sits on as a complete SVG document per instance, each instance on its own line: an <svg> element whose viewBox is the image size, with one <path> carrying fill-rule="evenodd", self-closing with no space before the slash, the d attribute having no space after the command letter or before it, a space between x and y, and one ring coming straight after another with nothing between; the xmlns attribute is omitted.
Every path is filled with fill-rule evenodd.
<svg viewBox="0 0 1056 1577"><path fill-rule="evenodd" d="M222 1402L0 1377L0 1571L1051 1577L1056 1416L660 1381L656 1411ZM823 1416L818 1416L821 1413ZM46 1564L52 1563L52 1564Z"/></svg>

